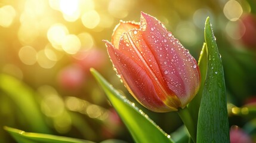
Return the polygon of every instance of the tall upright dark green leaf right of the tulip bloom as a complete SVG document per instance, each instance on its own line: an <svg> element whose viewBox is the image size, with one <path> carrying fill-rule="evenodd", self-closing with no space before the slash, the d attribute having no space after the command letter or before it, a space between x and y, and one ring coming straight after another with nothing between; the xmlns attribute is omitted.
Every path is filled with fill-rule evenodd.
<svg viewBox="0 0 256 143"><path fill-rule="evenodd" d="M197 142L230 142L223 66L209 17L205 22L207 71L198 117Z"/></svg>

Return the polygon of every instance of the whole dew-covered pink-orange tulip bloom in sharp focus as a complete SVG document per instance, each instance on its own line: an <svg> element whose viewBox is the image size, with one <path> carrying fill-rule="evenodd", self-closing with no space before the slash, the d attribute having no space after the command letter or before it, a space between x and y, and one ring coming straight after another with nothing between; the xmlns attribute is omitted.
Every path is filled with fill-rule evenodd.
<svg viewBox="0 0 256 143"><path fill-rule="evenodd" d="M121 21L104 42L121 81L149 110L177 111L198 92L195 58L155 17L141 12L140 23Z"/></svg>

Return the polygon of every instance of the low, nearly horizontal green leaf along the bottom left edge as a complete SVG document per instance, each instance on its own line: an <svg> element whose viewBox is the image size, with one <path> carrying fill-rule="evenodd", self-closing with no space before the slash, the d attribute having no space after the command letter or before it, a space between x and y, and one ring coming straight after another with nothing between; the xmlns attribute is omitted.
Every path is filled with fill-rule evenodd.
<svg viewBox="0 0 256 143"><path fill-rule="evenodd" d="M11 136L13 136L13 138L16 139L16 141L19 143L93 143L91 141L69 138L66 136L24 132L23 130L14 129L7 126L5 126L4 129L7 130Z"/></svg>

